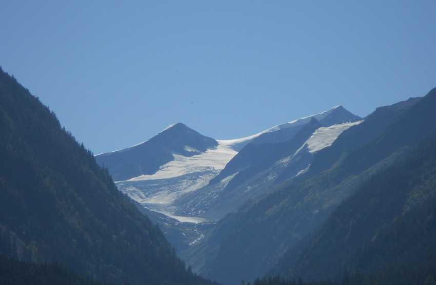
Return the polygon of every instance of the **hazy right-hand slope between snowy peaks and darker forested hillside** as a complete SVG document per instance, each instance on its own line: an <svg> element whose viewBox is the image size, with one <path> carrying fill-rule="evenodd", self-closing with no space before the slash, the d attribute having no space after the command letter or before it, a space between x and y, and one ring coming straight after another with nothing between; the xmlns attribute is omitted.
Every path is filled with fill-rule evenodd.
<svg viewBox="0 0 436 285"><path fill-rule="evenodd" d="M365 180L403 159L411 148L434 131L433 93L374 112L386 116L397 112L392 116L396 119L386 127L380 128L369 120L365 127L360 126L366 121L344 131L325 149L334 148L336 142L350 145L341 142L342 136L365 137L368 130L376 135L359 148L343 149L340 159L333 161L330 169L300 182L294 181L299 176L286 180L275 186L271 194L246 203L234 215L223 219L225 227L218 226L211 234L221 239L211 238L209 242L206 237L203 245L186 254L192 256L187 262L194 264L195 269L200 268L204 276L226 284L253 280L265 274L288 248L313 231ZM413 101L415 103L411 104ZM399 106L408 107L397 108ZM196 254L191 253L194 251ZM205 264L204 259L198 257L202 253L213 256L212 261Z"/></svg>

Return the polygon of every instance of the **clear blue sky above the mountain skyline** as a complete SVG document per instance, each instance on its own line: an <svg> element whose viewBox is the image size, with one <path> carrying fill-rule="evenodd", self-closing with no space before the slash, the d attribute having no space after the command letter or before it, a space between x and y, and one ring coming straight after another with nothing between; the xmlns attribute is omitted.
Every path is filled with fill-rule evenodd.
<svg viewBox="0 0 436 285"><path fill-rule="evenodd" d="M0 2L0 66L94 154L235 139L436 87L436 1Z"/></svg>

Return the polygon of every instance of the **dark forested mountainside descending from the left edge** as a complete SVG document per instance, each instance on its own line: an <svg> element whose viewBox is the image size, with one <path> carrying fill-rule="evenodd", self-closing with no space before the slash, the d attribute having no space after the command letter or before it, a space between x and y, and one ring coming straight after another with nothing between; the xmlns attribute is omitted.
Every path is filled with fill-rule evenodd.
<svg viewBox="0 0 436 285"><path fill-rule="evenodd" d="M210 284L53 112L0 68L0 253L101 282Z"/></svg>

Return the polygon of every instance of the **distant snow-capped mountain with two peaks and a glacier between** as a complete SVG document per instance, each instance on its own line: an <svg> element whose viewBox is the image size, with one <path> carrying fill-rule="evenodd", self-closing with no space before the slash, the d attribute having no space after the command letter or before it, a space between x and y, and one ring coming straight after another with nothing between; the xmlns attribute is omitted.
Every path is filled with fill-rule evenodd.
<svg viewBox="0 0 436 285"><path fill-rule="evenodd" d="M142 144L95 158L118 189L146 209L183 222L217 220L268 191L276 178L302 173L312 153L360 121L336 106L233 140L205 137L179 123Z"/></svg>

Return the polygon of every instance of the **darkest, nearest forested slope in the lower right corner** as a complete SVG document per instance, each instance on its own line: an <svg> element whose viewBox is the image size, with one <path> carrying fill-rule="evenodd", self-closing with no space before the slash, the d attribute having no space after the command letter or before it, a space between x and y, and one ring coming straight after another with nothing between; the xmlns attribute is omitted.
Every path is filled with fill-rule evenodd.
<svg viewBox="0 0 436 285"><path fill-rule="evenodd" d="M344 268L364 276L434 271L435 169L432 134L404 161L365 182L306 238L305 246L290 249L270 273L326 279Z"/></svg>

